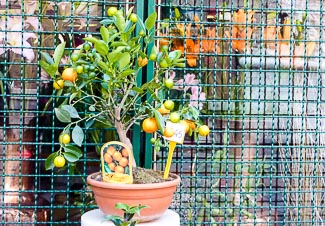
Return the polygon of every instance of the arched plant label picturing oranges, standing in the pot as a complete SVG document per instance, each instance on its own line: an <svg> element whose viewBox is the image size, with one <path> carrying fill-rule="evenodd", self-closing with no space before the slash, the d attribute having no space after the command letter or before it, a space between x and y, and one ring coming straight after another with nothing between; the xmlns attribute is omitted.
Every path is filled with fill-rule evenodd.
<svg viewBox="0 0 325 226"><path fill-rule="evenodd" d="M127 145L117 141L105 143L101 148L103 181L132 184L132 159Z"/></svg>

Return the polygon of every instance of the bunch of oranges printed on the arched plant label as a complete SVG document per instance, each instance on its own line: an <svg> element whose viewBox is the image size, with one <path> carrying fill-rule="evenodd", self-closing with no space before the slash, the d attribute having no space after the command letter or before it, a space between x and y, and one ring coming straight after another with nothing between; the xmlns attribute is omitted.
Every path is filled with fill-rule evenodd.
<svg viewBox="0 0 325 226"><path fill-rule="evenodd" d="M129 165L129 152L125 148L117 151L114 146L109 146L104 154L104 161L112 172L127 173L125 169Z"/></svg>

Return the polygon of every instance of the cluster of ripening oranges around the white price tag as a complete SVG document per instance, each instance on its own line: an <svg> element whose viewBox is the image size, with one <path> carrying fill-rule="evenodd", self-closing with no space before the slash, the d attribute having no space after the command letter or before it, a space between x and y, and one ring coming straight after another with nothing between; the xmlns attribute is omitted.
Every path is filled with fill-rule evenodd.
<svg viewBox="0 0 325 226"><path fill-rule="evenodd" d="M158 108L158 111L162 115L169 115L169 120L173 123L181 123L185 127L185 134L191 134L193 131L199 133L200 136L207 136L210 133L210 129L207 125L200 125L196 128L196 124L192 120L181 119L181 115L178 112L170 112L174 109L174 101L166 100L161 107ZM156 118L146 118L142 122L142 129L146 133L154 133L158 131L158 123ZM174 135L174 129L171 127L165 127L162 131L165 137L172 137Z"/></svg>

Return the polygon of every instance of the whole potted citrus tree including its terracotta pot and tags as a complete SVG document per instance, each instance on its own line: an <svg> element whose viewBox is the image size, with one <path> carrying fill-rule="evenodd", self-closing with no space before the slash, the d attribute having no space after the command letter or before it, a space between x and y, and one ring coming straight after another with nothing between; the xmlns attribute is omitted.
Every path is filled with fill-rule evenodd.
<svg viewBox="0 0 325 226"><path fill-rule="evenodd" d="M70 55L69 67L62 72L59 67L65 43L56 47L53 57L43 54L41 61L42 68L54 80L57 95L65 97L54 110L57 119L67 124L59 137L61 146L46 159L46 168L61 168L82 157L78 146L84 142L83 128L95 124L115 128L120 143L103 146L102 171L107 166L114 175L132 174L133 183L105 182L101 173L90 175L87 181L99 208L106 214L122 214L114 208L118 202L149 206L141 213L142 221L164 213L180 178L169 173L172 152L164 173L149 176L143 174L145 170L136 167L129 137L133 125L140 123L144 132L157 134L157 138L152 139L156 149L169 144L173 150L185 134L206 136L209 133L209 128L200 123L200 111L195 101L181 105L166 99L174 86L169 71L184 67L185 59L179 50L169 51L168 46L155 46L155 24L156 13L143 21L132 8L124 12L110 7L108 18L101 21L100 34L84 38L80 49ZM137 80L149 61L156 66L152 79L139 84ZM113 156L111 151L117 153L117 149L120 152ZM108 164L112 162L115 165ZM155 179L147 181L149 177ZM158 190L158 196L153 194L155 190Z"/></svg>

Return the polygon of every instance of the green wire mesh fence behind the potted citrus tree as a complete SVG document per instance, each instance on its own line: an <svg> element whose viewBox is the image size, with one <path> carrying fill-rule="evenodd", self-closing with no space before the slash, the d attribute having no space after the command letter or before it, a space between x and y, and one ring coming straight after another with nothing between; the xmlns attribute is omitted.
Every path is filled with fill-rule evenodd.
<svg viewBox="0 0 325 226"><path fill-rule="evenodd" d="M45 170L63 125L39 62L62 40L71 53L98 34L110 6L135 6L142 17L157 10L157 27L168 25L157 44L186 58L166 76L187 95L169 97L201 108L211 130L188 136L174 154L182 183L171 208L181 224L324 225L324 25L316 0L0 1L1 224L80 225L96 208L84 180L114 135L84 128L82 161ZM132 133L141 165L163 169L167 150L139 142L137 127Z"/></svg>

